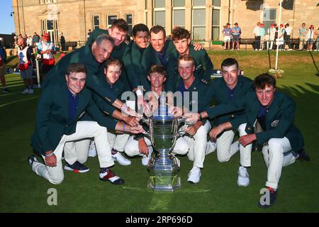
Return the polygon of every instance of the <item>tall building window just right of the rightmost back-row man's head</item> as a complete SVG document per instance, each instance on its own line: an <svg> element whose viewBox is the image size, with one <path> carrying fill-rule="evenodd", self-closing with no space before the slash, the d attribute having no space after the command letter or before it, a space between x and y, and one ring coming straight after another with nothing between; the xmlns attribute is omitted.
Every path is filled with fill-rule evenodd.
<svg viewBox="0 0 319 227"><path fill-rule="evenodd" d="M193 1L193 4L203 4L205 1ZM206 9L205 5L199 7L193 7L193 39L205 40L205 21L206 21Z"/></svg>

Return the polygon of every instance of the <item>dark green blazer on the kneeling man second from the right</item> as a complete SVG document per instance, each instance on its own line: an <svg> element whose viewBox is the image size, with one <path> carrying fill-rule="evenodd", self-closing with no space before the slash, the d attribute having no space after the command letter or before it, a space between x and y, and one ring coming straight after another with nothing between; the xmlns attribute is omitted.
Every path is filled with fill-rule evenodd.
<svg viewBox="0 0 319 227"><path fill-rule="evenodd" d="M247 92L252 91L252 80L247 77L238 77L237 84L233 91L233 100L237 100L245 96ZM213 79L209 90L208 96L211 100L214 100L214 104L223 104L227 101L230 101L230 97L228 95L228 87L225 83L223 77ZM228 122L233 126L233 131L237 131L237 128L240 124L246 122L246 117L244 111L234 111L230 114L223 114L217 116L215 119L215 125L219 126L222 123ZM213 124L212 124L213 125Z"/></svg>

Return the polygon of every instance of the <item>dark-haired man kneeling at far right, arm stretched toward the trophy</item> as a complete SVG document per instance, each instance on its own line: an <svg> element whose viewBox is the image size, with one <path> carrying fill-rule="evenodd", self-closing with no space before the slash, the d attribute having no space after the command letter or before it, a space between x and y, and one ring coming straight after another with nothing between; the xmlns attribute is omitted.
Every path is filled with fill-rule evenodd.
<svg viewBox="0 0 319 227"><path fill-rule="evenodd" d="M258 206L272 206L276 200L282 167L291 165L296 159L310 160L303 149L303 135L293 125L296 105L291 97L276 91L276 79L269 74L260 74L252 82L254 92L247 92L242 99L214 106L201 114L187 114L189 120L214 118L221 114L245 109L247 135L238 139L243 146L254 140L263 145L262 154L267 165L266 199ZM261 130L254 132L258 122Z"/></svg>

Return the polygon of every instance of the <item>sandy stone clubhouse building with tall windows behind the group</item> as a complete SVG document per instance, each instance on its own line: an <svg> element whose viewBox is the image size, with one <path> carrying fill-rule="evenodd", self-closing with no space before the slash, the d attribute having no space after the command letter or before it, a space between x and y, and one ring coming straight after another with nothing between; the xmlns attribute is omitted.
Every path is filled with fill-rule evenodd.
<svg viewBox="0 0 319 227"><path fill-rule="evenodd" d="M238 23L242 38L253 38L256 23L289 23L291 38L298 38L301 23L319 26L317 0L12 0L16 34L59 33L67 41L86 41L89 29L108 28L124 18L130 29L137 23L161 25L169 35L174 26L191 31L194 40L223 40L223 26Z"/></svg>

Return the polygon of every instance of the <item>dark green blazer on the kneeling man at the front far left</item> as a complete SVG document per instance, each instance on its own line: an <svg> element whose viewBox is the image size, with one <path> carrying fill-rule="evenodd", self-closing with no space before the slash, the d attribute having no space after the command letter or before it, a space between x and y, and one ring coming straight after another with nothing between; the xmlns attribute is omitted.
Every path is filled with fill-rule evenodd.
<svg viewBox="0 0 319 227"><path fill-rule="evenodd" d="M99 125L114 129L117 121L106 117L92 100L89 89L79 94L77 113L68 123L68 88L66 84L47 87L40 96L35 119L35 132L32 135L33 148L44 155L46 151L55 150L62 135L75 132L77 121L87 111Z"/></svg>

